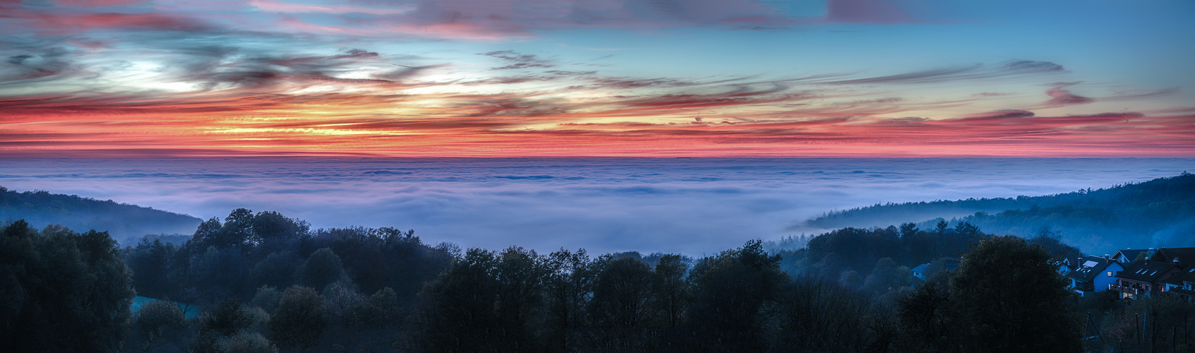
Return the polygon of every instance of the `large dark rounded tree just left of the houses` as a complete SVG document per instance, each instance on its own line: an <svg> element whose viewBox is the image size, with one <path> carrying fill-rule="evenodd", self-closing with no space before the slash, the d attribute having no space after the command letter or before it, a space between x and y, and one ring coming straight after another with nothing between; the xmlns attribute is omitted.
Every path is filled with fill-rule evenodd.
<svg viewBox="0 0 1195 353"><path fill-rule="evenodd" d="M974 351L1077 352L1078 317L1050 254L1015 236L978 243L950 279L960 343Z"/></svg>

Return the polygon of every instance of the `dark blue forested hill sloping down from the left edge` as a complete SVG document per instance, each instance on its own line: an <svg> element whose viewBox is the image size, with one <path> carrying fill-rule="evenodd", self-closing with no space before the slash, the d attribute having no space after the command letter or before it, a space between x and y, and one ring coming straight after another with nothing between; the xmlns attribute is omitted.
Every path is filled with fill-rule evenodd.
<svg viewBox="0 0 1195 353"><path fill-rule="evenodd" d="M47 191L17 192L0 186L0 222L25 219L42 228L62 224L76 231L108 231L124 242L147 234L191 234L202 219L112 200Z"/></svg>

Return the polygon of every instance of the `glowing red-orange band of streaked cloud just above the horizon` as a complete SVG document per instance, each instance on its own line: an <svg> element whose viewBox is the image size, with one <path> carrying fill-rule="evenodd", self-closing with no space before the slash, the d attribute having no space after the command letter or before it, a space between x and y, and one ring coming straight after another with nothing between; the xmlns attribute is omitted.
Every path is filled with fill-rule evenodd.
<svg viewBox="0 0 1195 353"><path fill-rule="evenodd" d="M268 98L251 103L266 111L216 110L203 103L153 109L25 106L0 122L0 155L1195 156L1195 114L997 112L954 119L771 114L568 123L578 117L566 112L471 117L433 110L409 116L357 113L351 100L341 101L344 105L333 114L301 104L271 106L275 103ZM0 107L22 104L2 101Z"/></svg>

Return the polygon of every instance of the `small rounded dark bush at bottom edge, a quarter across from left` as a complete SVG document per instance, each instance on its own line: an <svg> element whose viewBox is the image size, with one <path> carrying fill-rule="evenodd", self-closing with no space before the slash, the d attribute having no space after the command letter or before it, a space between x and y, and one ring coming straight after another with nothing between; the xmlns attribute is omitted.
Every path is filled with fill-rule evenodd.
<svg viewBox="0 0 1195 353"><path fill-rule="evenodd" d="M314 347L327 323L327 309L319 292L292 286L282 293L278 309L270 316L269 336L280 348Z"/></svg>

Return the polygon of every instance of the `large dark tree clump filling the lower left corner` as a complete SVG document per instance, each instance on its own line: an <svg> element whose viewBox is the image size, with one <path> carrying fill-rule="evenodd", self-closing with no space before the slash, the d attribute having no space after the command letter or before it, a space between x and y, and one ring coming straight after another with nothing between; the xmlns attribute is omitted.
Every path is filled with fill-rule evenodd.
<svg viewBox="0 0 1195 353"><path fill-rule="evenodd" d="M134 291L108 233L24 221L0 230L0 347L10 352L116 352Z"/></svg>

